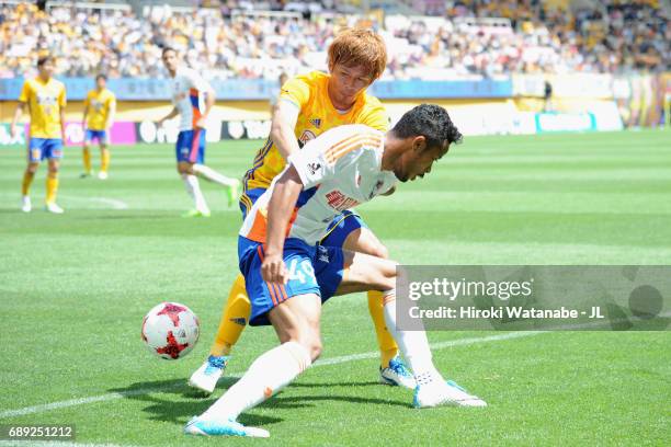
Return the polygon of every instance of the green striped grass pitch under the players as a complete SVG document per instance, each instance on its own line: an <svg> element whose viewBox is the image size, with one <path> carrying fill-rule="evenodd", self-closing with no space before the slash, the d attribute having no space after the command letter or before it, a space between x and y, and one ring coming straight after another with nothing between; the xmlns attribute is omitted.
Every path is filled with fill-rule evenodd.
<svg viewBox="0 0 671 447"><path fill-rule="evenodd" d="M207 163L241 175L259 146L209 145ZM54 216L42 209L45 167L24 215L25 151L0 150L0 424L75 424L76 443L116 446L669 445L669 332L432 332L440 369L489 406L413 410L411 392L377 385L364 295L325 307L327 362L241 417L269 440L185 437L235 380L208 399L185 386L237 274L240 214L204 184L212 218L180 218L191 203L171 145L112 153L107 181L80 180L80 149L67 148L66 214ZM668 265L671 134L467 138L423 181L360 211L402 263ZM202 320L179 362L139 337L161 300ZM230 374L274 344L272 330L248 329Z"/></svg>

